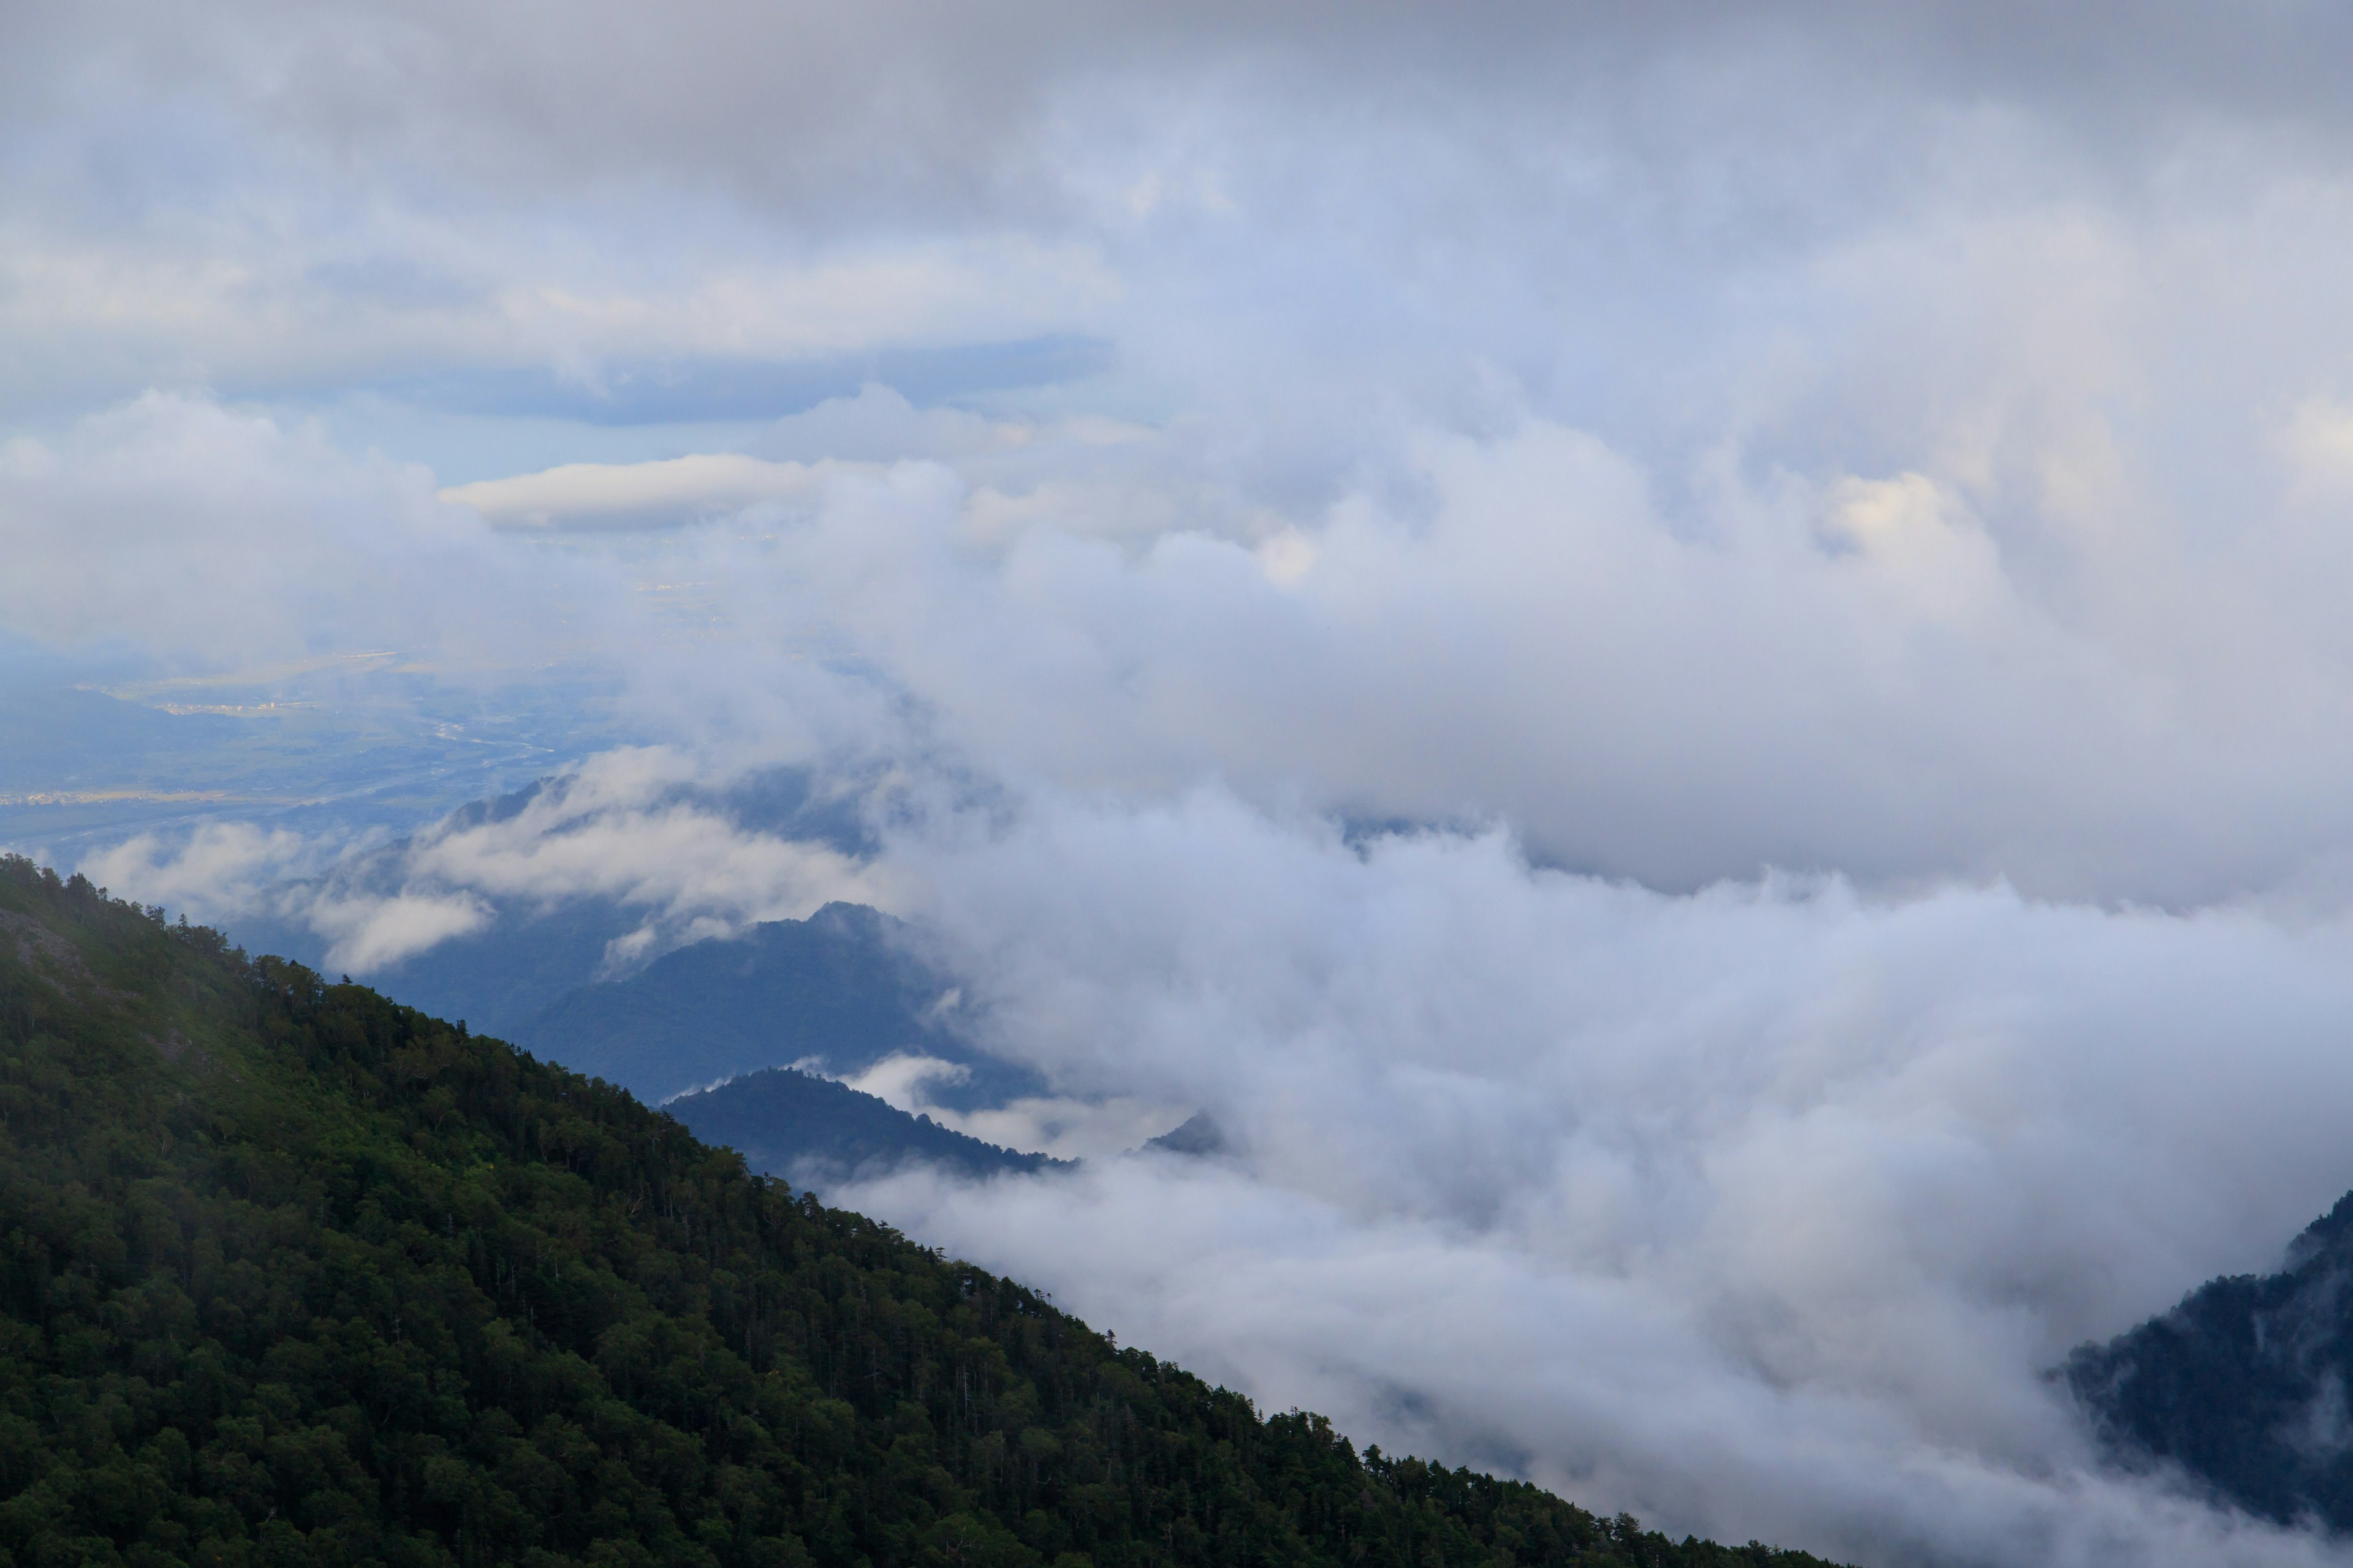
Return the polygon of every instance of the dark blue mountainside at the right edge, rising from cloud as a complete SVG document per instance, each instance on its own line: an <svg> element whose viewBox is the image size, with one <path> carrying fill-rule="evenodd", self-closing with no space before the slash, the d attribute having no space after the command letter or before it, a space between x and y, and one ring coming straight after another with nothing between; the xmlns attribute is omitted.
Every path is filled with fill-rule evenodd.
<svg viewBox="0 0 2353 1568"><path fill-rule="evenodd" d="M2177 1465L2249 1514L2353 1530L2353 1194L2278 1274L2214 1279L2061 1368L2127 1465Z"/></svg>

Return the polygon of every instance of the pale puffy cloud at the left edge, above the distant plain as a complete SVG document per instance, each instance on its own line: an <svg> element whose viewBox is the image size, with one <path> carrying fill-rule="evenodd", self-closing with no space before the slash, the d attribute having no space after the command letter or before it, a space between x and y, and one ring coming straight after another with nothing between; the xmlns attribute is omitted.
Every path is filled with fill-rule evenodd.
<svg viewBox="0 0 2353 1568"><path fill-rule="evenodd" d="M619 583L499 548L426 470L167 393L0 444L0 550L12 630L167 665L402 649L480 670L546 658L567 609L626 614Z"/></svg>

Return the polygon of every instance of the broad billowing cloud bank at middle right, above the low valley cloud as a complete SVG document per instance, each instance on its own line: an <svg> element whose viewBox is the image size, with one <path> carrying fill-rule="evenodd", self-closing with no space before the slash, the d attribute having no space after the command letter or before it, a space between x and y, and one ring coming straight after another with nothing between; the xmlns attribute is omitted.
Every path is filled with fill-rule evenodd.
<svg viewBox="0 0 2353 1568"><path fill-rule="evenodd" d="M2021 510L1951 465L1654 470L1534 416L1400 442L1391 487L1191 529L1111 503L1181 463L1176 428L1042 433L1026 475L1024 444L842 468L776 527L666 545L722 628L685 679L840 677L906 698L856 741L885 755L1499 818L1654 886L1779 865L2205 903L2353 827L2353 642L2313 592L2353 562L2285 503L2217 557L2162 508Z"/></svg>

